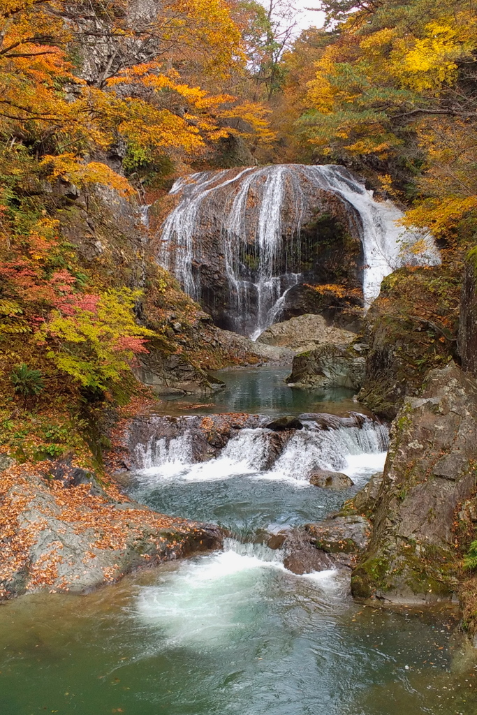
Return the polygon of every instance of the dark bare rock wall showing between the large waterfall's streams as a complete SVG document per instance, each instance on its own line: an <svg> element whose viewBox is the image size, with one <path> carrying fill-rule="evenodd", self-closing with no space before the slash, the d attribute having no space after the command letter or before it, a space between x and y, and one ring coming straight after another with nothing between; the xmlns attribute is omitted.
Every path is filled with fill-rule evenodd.
<svg viewBox="0 0 477 715"><path fill-rule="evenodd" d="M257 171L264 172L264 168ZM187 222L188 227L192 227L193 257L190 270L195 285L190 294L212 315L215 324L244 335L255 329L254 316L259 295L254 285L263 279L265 264L266 270L271 267L272 275L280 280L280 290L276 297L290 289L290 297L282 306L280 320L303 312L323 312L330 306L333 310L329 317L333 319L337 309L345 304L345 300L325 298L318 293L312 295L306 283L344 286L353 292L355 303L362 305L363 248L360 241L360 218L355 209L330 190L318 187L303 171L303 167L288 168L281 187L280 205L277 206L282 232L280 250L273 256L270 266L267 263L267 252L273 252L273 247L260 247L257 242L257 226L261 220L260 210L267 179L265 173L252 181L247 189L241 235L227 235L230 229L227 219L242 189L241 182L253 175L245 173L243 179L231 181L237 173L237 169L217 172L214 179L214 174L209 172L201 179L210 182L204 184L203 197L190 194L191 202L198 202L197 212ZM187 184L184 190L187 192ZM174 237L172 231L162 238L167 239L167 247L164 247L164 243L159 245L158 260L177 275L181 257L187 251L182 244L177 243L177 237ZM164 250L162 255L161 251ZM227 255L229 265L232 261L235 277L248 286L245 306L240 304L235 283L230 280L227 272ZM302 285L292 287L292 274L301 274Z"/></svg>

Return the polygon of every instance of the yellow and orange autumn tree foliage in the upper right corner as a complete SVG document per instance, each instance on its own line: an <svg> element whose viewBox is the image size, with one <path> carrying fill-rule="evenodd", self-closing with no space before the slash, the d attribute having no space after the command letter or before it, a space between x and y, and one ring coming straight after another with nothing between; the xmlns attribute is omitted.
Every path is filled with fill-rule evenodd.
<svg viewBox="0 0 477 715"><path fill-rule="evenodd" d="M335 0L325 9L338 38L330 36L308 82L300 140L328 161L370 157L386 189L394 167L407 177L398 189L408 198L432 199L426 217L413 215L418 225L432 225L433 207L455 222L477 189L473 4Z"/></svg>

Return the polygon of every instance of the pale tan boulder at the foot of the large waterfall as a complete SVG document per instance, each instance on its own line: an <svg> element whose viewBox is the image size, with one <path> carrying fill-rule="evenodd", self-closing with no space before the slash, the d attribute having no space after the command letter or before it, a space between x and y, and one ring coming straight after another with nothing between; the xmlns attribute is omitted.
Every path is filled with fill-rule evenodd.
<svg viewBox="0 0 477 715"><path fill-rule="evenodd" d="M270 325L257 337L257 342L305 352L323 342L345 345L353 342L355 337L349 330L328 325L323 315L307 314Z"/></svg>

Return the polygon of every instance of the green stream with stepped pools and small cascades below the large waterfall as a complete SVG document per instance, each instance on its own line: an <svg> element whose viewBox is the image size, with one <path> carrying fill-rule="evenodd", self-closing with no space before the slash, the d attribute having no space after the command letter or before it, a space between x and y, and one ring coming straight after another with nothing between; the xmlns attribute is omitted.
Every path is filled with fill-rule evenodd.
<svg viewBox="0 0 477 715"><path fill-rule="evenodd" d="M282 378L225 373L231 409L250 380L257 412L263 400L268 414L337 413L346 398L308 393L308 404L304 395L290 403L286 388L283 403L270 402L267 390L260 398L261 374ZM225 396L215 400L195 409L224 411ZM221 523L231 538L222 551L86 596L41 593L2 606L1 715L475 715L477 671L452 655L456 613L363 607L345 573L297 576L280 550L257 543L261 530L319 521L353 495L383 467L385 429L372 420L322 432L305 425L271 467L265 433L241 430L199 464L187 436L138 447L134 498ZM338 468L355 486L310 486L310 465Z"/></svg>

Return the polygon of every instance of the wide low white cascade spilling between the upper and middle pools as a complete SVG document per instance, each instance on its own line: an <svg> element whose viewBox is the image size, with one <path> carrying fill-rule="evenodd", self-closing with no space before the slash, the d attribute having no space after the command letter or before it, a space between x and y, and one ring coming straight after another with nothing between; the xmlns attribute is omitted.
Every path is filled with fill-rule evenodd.
<svg viewBox="0 0 477 715"><path fill-rule="evenodd" d="M307 423L280 437L267 428L245 428L233 435L215 458L202 461L194 457L187 431L169 440L151 438L146 446L137 446L138 478L153 484L164 478L193 482L255 475L308 485L313 471L326 469L360 480L361 475L382 468L388 448L385 425L363 420L362 426L326 430Z"/></svg>

